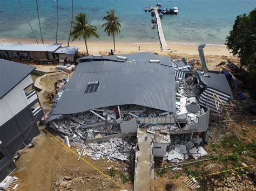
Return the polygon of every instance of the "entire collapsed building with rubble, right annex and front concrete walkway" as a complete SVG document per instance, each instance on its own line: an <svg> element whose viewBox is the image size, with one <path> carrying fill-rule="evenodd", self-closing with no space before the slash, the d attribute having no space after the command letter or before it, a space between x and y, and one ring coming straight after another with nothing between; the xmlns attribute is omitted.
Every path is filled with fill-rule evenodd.
<svg viewBox="0 0 256 191"><path fill-rule="evenodd" d="M154 157L181 162L207 155L201 143L210 112L232 99L225 75L207 70L200 46L199 55L204 63L197 71L185 58L149 52L80 58L46 124L93 160L129 161L134 152L134 189L148 190Z"/></svg>

